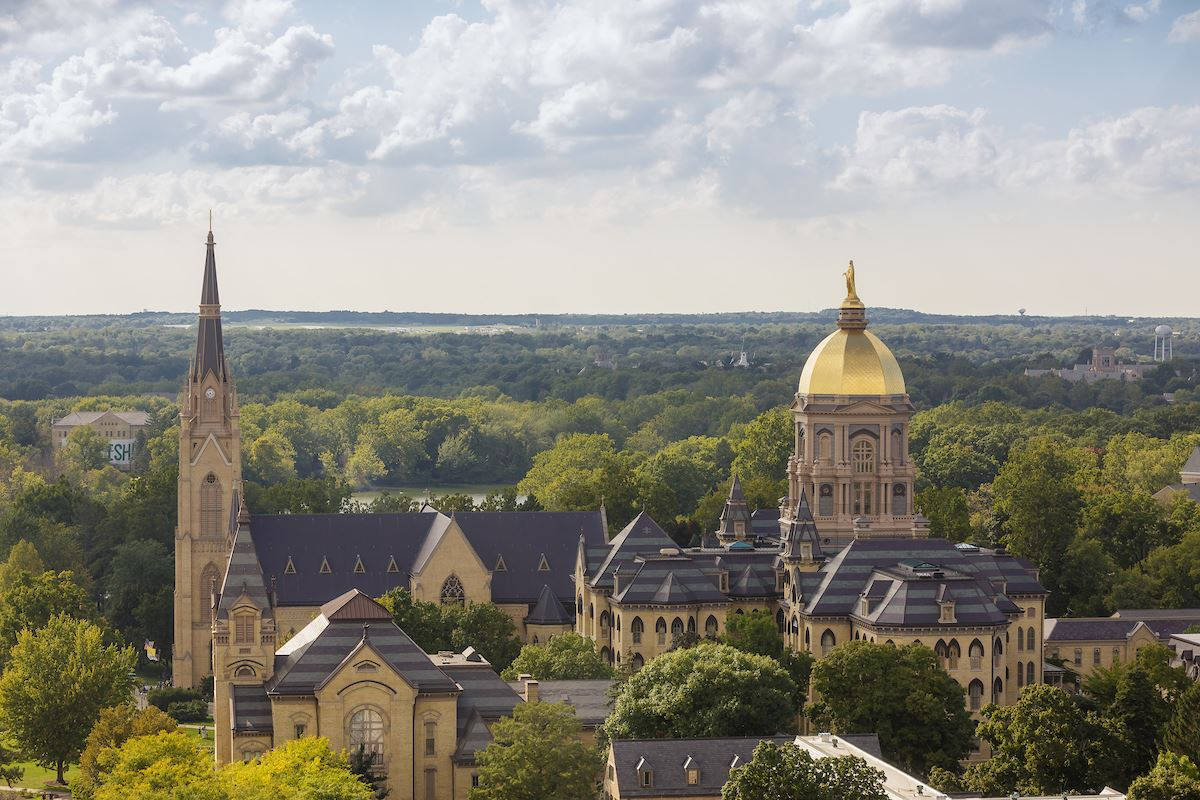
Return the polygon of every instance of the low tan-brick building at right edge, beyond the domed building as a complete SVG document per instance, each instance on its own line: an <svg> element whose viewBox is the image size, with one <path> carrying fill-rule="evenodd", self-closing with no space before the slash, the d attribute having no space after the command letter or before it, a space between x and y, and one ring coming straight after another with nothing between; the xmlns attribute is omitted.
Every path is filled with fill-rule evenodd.
<svg viewBox="0 0 1200 800"><path fill-rule="evenodd" d="M1151 644L1170 644L1176 633L1200 625L1200 608L1132 608L1112 616L1048 619L1044 649L1081 676L1099 667L1132 662Z"/></svg>

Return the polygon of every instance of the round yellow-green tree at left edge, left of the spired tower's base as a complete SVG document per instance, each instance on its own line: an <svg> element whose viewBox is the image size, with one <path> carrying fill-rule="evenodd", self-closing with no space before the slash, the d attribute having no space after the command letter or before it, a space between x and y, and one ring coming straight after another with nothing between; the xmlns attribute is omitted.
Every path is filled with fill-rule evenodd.
<svg viewBox="0 0 1200 800"><path fill-rule="evenodd" d="M128 700L136 664L133 649L104 645L96 625L55 614L41 630L22 631L10 654L0 675L0 732L53 764L62 783L100 710Z"/></svg>

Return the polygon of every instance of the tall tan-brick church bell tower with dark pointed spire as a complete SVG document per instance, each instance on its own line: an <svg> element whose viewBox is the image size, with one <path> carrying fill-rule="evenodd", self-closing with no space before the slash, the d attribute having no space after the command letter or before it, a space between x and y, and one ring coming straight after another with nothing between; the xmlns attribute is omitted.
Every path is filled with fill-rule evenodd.
<svg viewBox="0 0 1200 800"><path fill-rule="evenodd" d="M212 594L229 558L241 487L238 392L224 357L211 219L206 248L196 354L179 408L175 686L194 686L212 674Z"/></svg>

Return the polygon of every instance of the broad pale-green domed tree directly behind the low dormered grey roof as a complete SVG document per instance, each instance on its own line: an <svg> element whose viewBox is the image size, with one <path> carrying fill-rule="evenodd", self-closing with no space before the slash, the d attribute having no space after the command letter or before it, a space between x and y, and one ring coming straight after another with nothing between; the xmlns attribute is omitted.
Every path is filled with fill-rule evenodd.
<svg viewBox="0 0 1200 800"><path fill-rule="evenodd" d="M794 697L773 658L706 642L634 673L605 730L612 739L770 735L796 728Z"/></svg>

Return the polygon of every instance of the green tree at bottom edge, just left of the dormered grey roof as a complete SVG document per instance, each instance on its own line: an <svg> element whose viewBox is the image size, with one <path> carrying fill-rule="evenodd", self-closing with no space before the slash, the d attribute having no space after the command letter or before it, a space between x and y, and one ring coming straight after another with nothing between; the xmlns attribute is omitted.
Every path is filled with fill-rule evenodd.
<svg viewBox="0 0 1200 800"><path fill-rule="evenodd" d="M475 754L479 786L470 800L594 798L604 759L580 741L580 732L569 705L518 704L492 726L492 741Z"/></svg>

